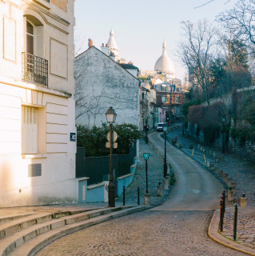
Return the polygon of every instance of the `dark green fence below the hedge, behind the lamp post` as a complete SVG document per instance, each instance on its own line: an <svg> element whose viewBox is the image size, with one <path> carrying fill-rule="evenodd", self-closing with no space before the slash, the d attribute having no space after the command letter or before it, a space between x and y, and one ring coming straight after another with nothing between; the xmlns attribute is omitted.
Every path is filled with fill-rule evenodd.
<svg viewBox="0 0 255 256"><path fill-rule="evenodd" d="M133 165L133 158L136 157L136 143L133 143L129 153L113 155L114 179L115 177L130 174L130 166ZM76 178L82 177L89 177L88 185L109 181L110 156L85 158L85 148L78 147L76 154Z"/></svg>

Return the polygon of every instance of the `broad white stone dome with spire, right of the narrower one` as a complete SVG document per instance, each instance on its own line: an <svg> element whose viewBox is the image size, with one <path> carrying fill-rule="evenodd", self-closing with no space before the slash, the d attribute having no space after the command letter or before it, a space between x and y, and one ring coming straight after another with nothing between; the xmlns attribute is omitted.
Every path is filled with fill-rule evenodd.
<svg viewBox="0 0 255 256"><path fill-rule="evenodd" d="M162 72L165 72L166 74L169 74L171 77L175 78L175 69L173 66L172 60L167 56L166 54L166 43L165 40L163 42L163 52L160 58L157 59L157 62L155 64L154 70L160 70Z"/></svg>

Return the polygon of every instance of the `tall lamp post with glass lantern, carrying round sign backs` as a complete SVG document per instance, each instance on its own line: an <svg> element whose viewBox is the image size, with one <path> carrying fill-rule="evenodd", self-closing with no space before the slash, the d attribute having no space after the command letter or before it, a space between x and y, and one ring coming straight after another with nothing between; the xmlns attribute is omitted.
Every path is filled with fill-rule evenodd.
<svg viewBox="0 0 255 256"><path fill-rule="evenodd" d="M106 120L110 123L110 182L108 186L109 207L115 207L115 186L114 186L114 172L113 172L113 123L116 119L116 112L113 107L106 111Z"/></svg>

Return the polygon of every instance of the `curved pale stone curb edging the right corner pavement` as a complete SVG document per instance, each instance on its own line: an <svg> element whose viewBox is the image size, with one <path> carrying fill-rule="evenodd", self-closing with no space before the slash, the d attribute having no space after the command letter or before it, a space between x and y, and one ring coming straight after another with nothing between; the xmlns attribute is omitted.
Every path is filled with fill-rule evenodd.
<svg viewBox="0 0 255 256"><path fill-rule="evenodd" d="M238 250L242 253L255 256L254 249L249 248L248 246L242 246L241 244L239 244L237 242L233 242L233 241L229 240L228 238L225 238L224 236L219 234L219 232L218 232L219 222L220 222L220 211L216 210L216 211L214 211L213 218L209 225L209 230L208 230L209 238L213 239L215 242L221 244L222 246L226 246L233 250Z"/></svg>

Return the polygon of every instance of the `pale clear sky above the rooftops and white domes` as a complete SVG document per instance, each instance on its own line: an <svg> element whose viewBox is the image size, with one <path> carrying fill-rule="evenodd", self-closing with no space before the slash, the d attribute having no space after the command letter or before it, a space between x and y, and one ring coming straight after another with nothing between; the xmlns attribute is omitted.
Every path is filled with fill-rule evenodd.
<svg viewBox="0 0 255 256"><path fill-rule="evenodd" d="M174 54L181 40L181 22L204 18L213 22L217 14L232 9L237 0L214 0L201 6L205 2L209 0L76 0L75 30L86 48L91 38L100 49L102 42L107 43L112 27L121 58L142 70L154 69L165 38L176 76L183 80L185 66Z"/></svg>

